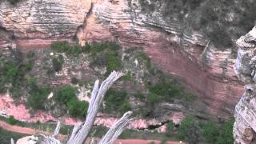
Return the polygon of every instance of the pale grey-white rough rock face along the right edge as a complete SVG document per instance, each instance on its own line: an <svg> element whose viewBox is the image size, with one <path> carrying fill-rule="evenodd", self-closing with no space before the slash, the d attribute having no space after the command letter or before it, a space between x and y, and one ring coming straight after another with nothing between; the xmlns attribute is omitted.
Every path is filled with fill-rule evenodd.
<svg viewBox="0 0 256 144"><path fill-rule="evenodd" d="M234 71L245 83L245 92L235 107L234 143L254 143L256 131L256 26L237 41Z"/></svg>

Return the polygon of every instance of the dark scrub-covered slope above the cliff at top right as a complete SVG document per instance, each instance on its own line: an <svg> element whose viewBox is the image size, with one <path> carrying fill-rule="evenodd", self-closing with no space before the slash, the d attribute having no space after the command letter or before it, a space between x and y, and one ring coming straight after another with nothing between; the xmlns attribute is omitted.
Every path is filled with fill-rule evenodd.
<svg viewBox="0 0 256 144"><path fill-rule="evenodd" d="M256 3L233 0L139 0L142 12L160 12L166 22L198 30L218 48L232 48L234 40L255 24Z"/></svg>

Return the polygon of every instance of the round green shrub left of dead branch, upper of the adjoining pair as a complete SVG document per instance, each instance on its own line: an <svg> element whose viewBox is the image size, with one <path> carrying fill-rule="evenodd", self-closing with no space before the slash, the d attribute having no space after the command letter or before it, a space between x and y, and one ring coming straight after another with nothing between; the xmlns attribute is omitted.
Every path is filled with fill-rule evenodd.
<svg viewBox="0 0 256 144"><path fill-rule="evenodd" d="M61 86L54 92L53 96L56 102L67 106L71 99L76 98L76 90L72 86Z"/></svg>

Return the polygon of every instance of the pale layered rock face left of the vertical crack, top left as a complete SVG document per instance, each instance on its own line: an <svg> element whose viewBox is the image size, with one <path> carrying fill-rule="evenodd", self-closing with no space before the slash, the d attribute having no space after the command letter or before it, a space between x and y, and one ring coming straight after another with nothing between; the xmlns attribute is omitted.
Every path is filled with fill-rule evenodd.
<svg viewBox="0 0 256 144"><path fill-rule="evenodd" d="M0 3L0 26L18 38L74 36L90 10L90 0L26 0Z"/></svg>

